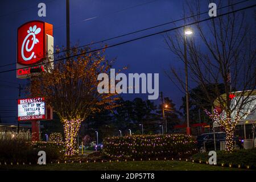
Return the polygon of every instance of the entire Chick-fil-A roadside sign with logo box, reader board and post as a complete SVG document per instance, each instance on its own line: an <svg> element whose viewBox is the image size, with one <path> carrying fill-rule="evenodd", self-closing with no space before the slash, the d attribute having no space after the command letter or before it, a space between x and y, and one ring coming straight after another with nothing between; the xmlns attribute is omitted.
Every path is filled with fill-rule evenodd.
<svg viewBox="0 0 256 182"><path fill-rule="evenodd" d="M44 69L46 61L53 67L53 26L42 21L24 23L18 28L16 77L28 78ZM46 109L44 98L18 100L18 121L32 121L32 140L39 140L40 122L52 119L52 109Z"/></svg>

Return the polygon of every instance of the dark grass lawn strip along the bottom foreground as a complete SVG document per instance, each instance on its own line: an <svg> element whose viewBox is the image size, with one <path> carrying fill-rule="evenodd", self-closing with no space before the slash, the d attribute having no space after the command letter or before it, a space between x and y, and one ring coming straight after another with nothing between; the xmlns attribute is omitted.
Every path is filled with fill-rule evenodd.
<svg viewBox="0 0 256 182"><path fill-rule="evenodd" d="M67 164L46 164L46 165L1 165L0 170L91 170L91 171L114 171L114 170L161 170L161 171L229 171L242 170L238 168L228 168L210 166L208 164L198 164L180 161L135 161L135 162L104 162L104 163L67 163Z"/></svg>

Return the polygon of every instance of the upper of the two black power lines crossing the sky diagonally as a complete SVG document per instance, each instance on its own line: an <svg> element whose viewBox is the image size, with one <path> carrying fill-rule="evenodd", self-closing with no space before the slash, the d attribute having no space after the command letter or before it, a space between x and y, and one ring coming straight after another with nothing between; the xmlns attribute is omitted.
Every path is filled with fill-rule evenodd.
<svg viewBox="0 0 256 182"><path fill-rule="evenodd" d="M238 4L240 4L240 3L244 3L244 2L247 2L247 1L250 1L250 0L244 0L244 1L237 2L237 3L233 3L232 5L222 6L222 7L218 8L217 10L221 10L221 9L226 8L226 7L230 7L230 6L234 6L234 5L238 5ZM137 34L138 32L142 32L142 31L146 31L146 30L151 30L151 29L153 29L153 28L165 26L165 25L170 24L170 23L180 22L181 20L193 18L193 17L195 17L195 16L199 16L199 15L203 15L203 14L208 14L208 11L205 11L205 12L203 12L203 13L199 13L199 14L196 14L196 15L190 15L190 16L187 16L187 17L185 17L185 18L180 18L180 19L177 19L177 20L172 20L171 22L166 22L166 23L158 24L158 25L155 25L155 26L152 26L152 27L143 28L143 29L141 29L141 30L133 31L133 32L130 32L130 33L127 33L127 34L122 34L122 35L114 36L114 37L112 37L112 38L107 38L107 39L104 39L104 40L100 40L100 41L98 41L98 42L85 44L84 46L79 46L79 47L76 47L76 48L65 49L65 50L63 50L63 51L59 51L59 52L55 52L55 53L48 54L47 56L56 55L56 54L59 54L59 53L62 53L62 52L67 52L67 51L71 51L71 50L77 49L77 48L92 46L93 44L103 43L103 42L106 42L106 41L109 41L109 40L113 40L113 39L117 39L117 38L121 38L121 37L127 36L127 35ZM38 59L38 58L46 58L47 56L37 57L36 59ZM32 58L31 60L33 60L33 59L34 59L34 58ZM14 65L14 64L16 64L16 63L9 63L9 64L5 64L5 65L1 65L0 68L2 68L2 67L7 67L7 66L9 66L9 65Z"/></svg>

